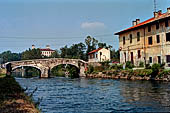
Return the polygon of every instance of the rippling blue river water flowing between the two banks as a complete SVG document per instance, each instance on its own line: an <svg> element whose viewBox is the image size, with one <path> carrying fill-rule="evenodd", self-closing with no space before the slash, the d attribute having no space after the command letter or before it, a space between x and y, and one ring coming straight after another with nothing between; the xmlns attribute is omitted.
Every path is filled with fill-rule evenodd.
<svg viewBox="0 0 170 113"><path fill-rule="evenodd" d="M170 83L110 79L16 78L43 113L169 112Z"/></svg>

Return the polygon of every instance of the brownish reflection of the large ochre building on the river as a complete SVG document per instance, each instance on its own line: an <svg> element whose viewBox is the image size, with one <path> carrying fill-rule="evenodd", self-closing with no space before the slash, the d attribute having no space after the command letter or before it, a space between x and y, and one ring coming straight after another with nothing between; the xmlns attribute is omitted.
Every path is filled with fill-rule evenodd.
<svg viewBox="0 0 170 113"><path fill-rule="evenodd" d="M147 110L170 110L169 83L156 81L124 81L120 85L124 102L133 106L148 108Z"/></svg>

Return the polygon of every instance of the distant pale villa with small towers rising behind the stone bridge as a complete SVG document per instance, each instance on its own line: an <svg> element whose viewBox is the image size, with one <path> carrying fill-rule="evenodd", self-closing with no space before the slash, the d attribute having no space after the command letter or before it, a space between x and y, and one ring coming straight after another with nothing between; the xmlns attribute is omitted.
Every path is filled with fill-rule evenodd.
<svg viewBox="0 0 170 113"><path fill-rule="evenodd" d="M35 45L32 45L32 49L35 49ZM47 45L45 49L40 49L40 51L42 56L47 56L47 57L50 57L52 53L55 52L55 50L50 49L49 45Z"/></svg>

